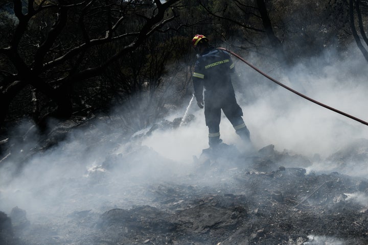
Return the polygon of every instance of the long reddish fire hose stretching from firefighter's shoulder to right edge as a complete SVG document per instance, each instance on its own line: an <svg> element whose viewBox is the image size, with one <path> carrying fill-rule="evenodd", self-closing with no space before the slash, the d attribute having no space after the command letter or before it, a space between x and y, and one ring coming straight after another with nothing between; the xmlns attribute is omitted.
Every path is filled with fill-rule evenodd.
<svg viewBox="0 0 368 245"><path fill-rule="evenodd" d="M299 95L299 96L303 97L304 99L306 99L306 100L308 100L308 101L310 101L310 102L313 102L313 103L315 103L315 104L317 104L317 105L319 105L319 106L325 107L325 108L327 108L327 109L329 109L329 110L331 110L331 111L337 112L337 113L339 113L339 114L341 114L341 115L347 116L347 117L349 117L349 118L351 118L351 119L353 119L353 120L359 121L360 123L362 123L362 124L364 124L364 125L368 126L368 122L366 122L366 121L364 121L364 120L362 120L362 119L359 119L359 118L357 118L357 117L355 117L355 116L349 115L348 113L345 113L345 112L343 112L343 111L339 111L339 110L337 110L337 109L335 109L335 108L333 108L333 107L331 107L331 106L328 106L328 105L325 105L325 104L323 104L323 103L320 103L320 102L318 102L318 101L316 101L316 100L313 100L313 99L311 99L310 97L308 97L308 96L306 96L306 95L304 95L304 94L302 94L302 93L300 93L300 92L298 92L298 91L296 91L296 90L294 90L294 89L292 89L292 88L290 88L290 87L286 86L285 84L282 84L281 82L279 82L279 81L277 81L276 79L274 79L274 78L272 78L272 77L268 76L268 75L267 75L267 74L265 74L263 71L261 71L260 69L258 69L256 66L254 66L254 65L250 64L249 62L247 62L247 61L246 61L246 60L244 60L241 56L239 56L239 55L235 54L234 52L229 51L229 50L227 50L226 48L223 48L223 47L218 47L218 49L219 49L219 50L226 51L226 52L228 52L228 53L230 53L230 54L234 55L234 56L235 56L235 57L237 57L239 60L243 61L245 64L247 64L248 66L250 66L252 69L254 69L254 70L256 70L257 72L259 72L259 73L260 73L261 75L263 75L264 77L266 77L266 78L268 78L269 80L271 80L272 82L274 82L274 83L276 83L276 84L278 84L278 85L280 85L280 86L282 86L282 87L286 88L287 90L289 90L289 91L291 91L291 92L293 92L293 93L295 93L295 94L297 94L297 95Z"/></svg>

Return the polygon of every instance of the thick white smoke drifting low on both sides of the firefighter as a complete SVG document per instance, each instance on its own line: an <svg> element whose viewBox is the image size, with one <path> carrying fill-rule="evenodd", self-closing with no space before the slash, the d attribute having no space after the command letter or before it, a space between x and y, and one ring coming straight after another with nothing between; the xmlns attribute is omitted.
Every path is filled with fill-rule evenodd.
<svg viewBox="0 0 368 245"><path fill-rule="evenodd" d="M361 57L329 59L335 62L325 65L318 59L311 59L288 67L281 74L275 72L274 67L260 68L321 103L368 120L365 113L368 105L366 62ZM252 58L248 61L252 63ZM275 150L286 149L310 158L318 154L323 161L347 143L368 138L368 126L275 86L239 61L236 67L241 75L235 81L236 95L256 149L274 144ZM62 215L74 210L103 211L114 206L128 208L142 204L140 199L131 198L137 193L144 195L142 189L134 189L136 183L179 181L176 176L190 174L193 156L199 157L202 149L208 147L203 110L195 102L191 105L186 102L167 119L182 117L186 109L195 116L194 120L177 129L156 130L144 137L141 145L128 142L112 149L109 144L96 143L108 142L107 139L101 141L101 134L85 141L86 132L81 131L69 135L43 155L33 157L17 176L12 176L15 162L4 165L0 169L0 210L9 213L11 208L18 206L27 210L28 218L36 219L39 213L45 212ZM86 129L88 135L93 135L93 130L98 129ZM239 137L224 116L220 132L225 143L242 150ZM119 128L114 133L118 134ZM101 164L111 154L116 154L118 161L126 164L107 173ZM91 183L88 178L91 175L102 178L100 182ZM123 197L116 193L123 193Z"/></svg>

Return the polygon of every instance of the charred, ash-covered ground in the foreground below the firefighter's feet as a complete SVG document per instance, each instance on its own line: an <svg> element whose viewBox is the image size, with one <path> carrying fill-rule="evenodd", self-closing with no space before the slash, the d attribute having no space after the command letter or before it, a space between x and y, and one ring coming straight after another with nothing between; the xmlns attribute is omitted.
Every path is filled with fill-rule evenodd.
<svg viewBox="0 0 368 245"><path fill-rule="evenodd" d="M151 149L110 154L103 171L63 183L76 190L58 193L69 206L80 200L74 210L44 209L31 221L22 207L0 212L0 244L368 244L368 203L359 201L368 192L365 178L307 170L308 158L273 145L252 153L225 146L194 157L190 171L155 181L127 178L136 176L129 170L141 155L166 161ZM339 169L351 167L352 159L361 165L367 149L367 140L359 140L323 161ZM112 177L116 171L126 178ZM104 192L114 201L94 206ZM83 209L84 202L91 208Z"/></svg>

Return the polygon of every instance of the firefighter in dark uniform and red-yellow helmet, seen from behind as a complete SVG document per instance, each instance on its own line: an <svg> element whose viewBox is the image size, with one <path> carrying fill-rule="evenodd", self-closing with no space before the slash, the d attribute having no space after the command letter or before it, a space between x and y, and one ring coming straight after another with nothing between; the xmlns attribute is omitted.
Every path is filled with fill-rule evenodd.
<svg viewBox="0 0 368 245"><path fill-rule="evenodd" d="M249 130L244 124L243 111L236 101L231 81L230 74L234 72L234 63L230 55L210 45L209 39L203 35L195 35L192 45L198 58L192 76L194 95L199 108L204 107L210 148L217 148L222 143L221 109L240 138L250 143Z"/></svg>

